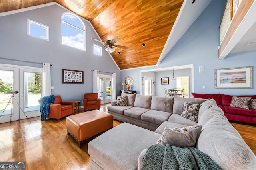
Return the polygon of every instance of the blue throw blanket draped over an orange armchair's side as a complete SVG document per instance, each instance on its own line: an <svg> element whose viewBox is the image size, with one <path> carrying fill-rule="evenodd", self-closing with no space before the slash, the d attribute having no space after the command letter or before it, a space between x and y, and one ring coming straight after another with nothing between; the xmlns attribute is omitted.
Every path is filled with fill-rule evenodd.
<svg viewBox="0 0 256 170"><path fill-rule="evenodd" d="M40 104L40 112L41 112L41 121L46 120L46 117L48 117L50 113L50 104L54 104L55 102L55 96L44 96L38 100Z"/></svg>

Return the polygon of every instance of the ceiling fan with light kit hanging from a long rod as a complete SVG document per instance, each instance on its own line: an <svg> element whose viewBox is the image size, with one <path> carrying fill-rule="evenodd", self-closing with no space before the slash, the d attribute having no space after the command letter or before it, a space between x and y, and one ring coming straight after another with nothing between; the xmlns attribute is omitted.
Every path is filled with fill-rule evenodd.
<svg viewBox="0 0 256 170"><path fill-rule="evenodd" d="M109 38L110 38L110 33L111 33L111 31L110 31L110 0L109 0ZM92 39L94 39L94 38L92 38ZM118 48L122 48L122 49L129 48L129 47L122 46L122 45L115 45L115 43L120 40L120 38L118 38L118 37L114 37L112 40L107 40L105 42L100 41L98 39L94 39L94 40L106 44L108 46L108 48L106 48L105 50L110 53L115 52L116 49L114 47L118 47Z"/></svg>

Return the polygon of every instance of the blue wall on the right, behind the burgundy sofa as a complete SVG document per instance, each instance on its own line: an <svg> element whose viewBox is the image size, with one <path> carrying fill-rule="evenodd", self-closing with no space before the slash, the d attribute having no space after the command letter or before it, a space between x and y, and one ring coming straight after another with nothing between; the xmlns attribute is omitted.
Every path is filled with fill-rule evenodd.
<svg viewBox="0 0 256 170"><path fill-rule="evenodd" d="M256 66L256 51L230 54L218 60L220 45L219 25L226 5L225 0L213 0L202 14L194 21L181 39L169 51L159 66L121 71L121 78L132 76L140 70L152 70L194 64L194 92L205 94L256 94L253 89L219 89L214 88L214 70L216 68L234 68ZM199 66L205 66L205 72L199 73ZM138 78L134 80L134 89L139 93ZM253 69L253 80L256 80L256 69ZM202 89L205 86L205 89Z"/></svg>

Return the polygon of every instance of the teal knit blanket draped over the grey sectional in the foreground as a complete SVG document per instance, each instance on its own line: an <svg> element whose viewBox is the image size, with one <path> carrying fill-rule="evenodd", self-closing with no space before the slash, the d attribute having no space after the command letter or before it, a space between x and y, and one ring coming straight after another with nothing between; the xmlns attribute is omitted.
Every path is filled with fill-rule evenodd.
<svg viewBox="0 0 256 170"><path fill-rule="evenodd" d="M141 170L221 170L207 154L194 147L161 144L148 148Z"/></svg>

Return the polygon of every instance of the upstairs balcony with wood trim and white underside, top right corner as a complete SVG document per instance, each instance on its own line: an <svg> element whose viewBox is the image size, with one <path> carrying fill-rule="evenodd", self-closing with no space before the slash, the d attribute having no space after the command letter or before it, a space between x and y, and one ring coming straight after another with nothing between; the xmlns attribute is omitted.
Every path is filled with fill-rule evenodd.
<svg viewBox="0 0 256 170"><path fill-rule="evenodd" d="M256 0L227 0L220 23L218 59L256 50Z"/></svg>

